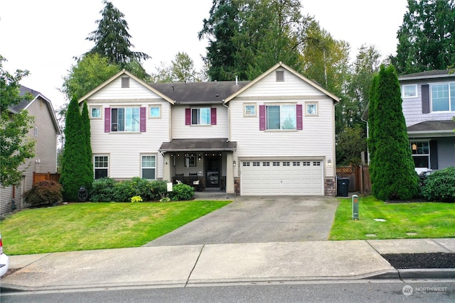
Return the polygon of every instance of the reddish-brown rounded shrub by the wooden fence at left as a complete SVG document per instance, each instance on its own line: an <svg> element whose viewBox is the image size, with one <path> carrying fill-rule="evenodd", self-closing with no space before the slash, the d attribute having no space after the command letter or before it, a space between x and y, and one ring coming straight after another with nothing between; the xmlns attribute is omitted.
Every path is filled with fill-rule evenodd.
<svg viewBox="0 0 455 303"><path fill-rule="evenodd" d="M63 199L62 185L49 180L37 182L26 192L25 197L32 205L56 204Z"/></svg>

